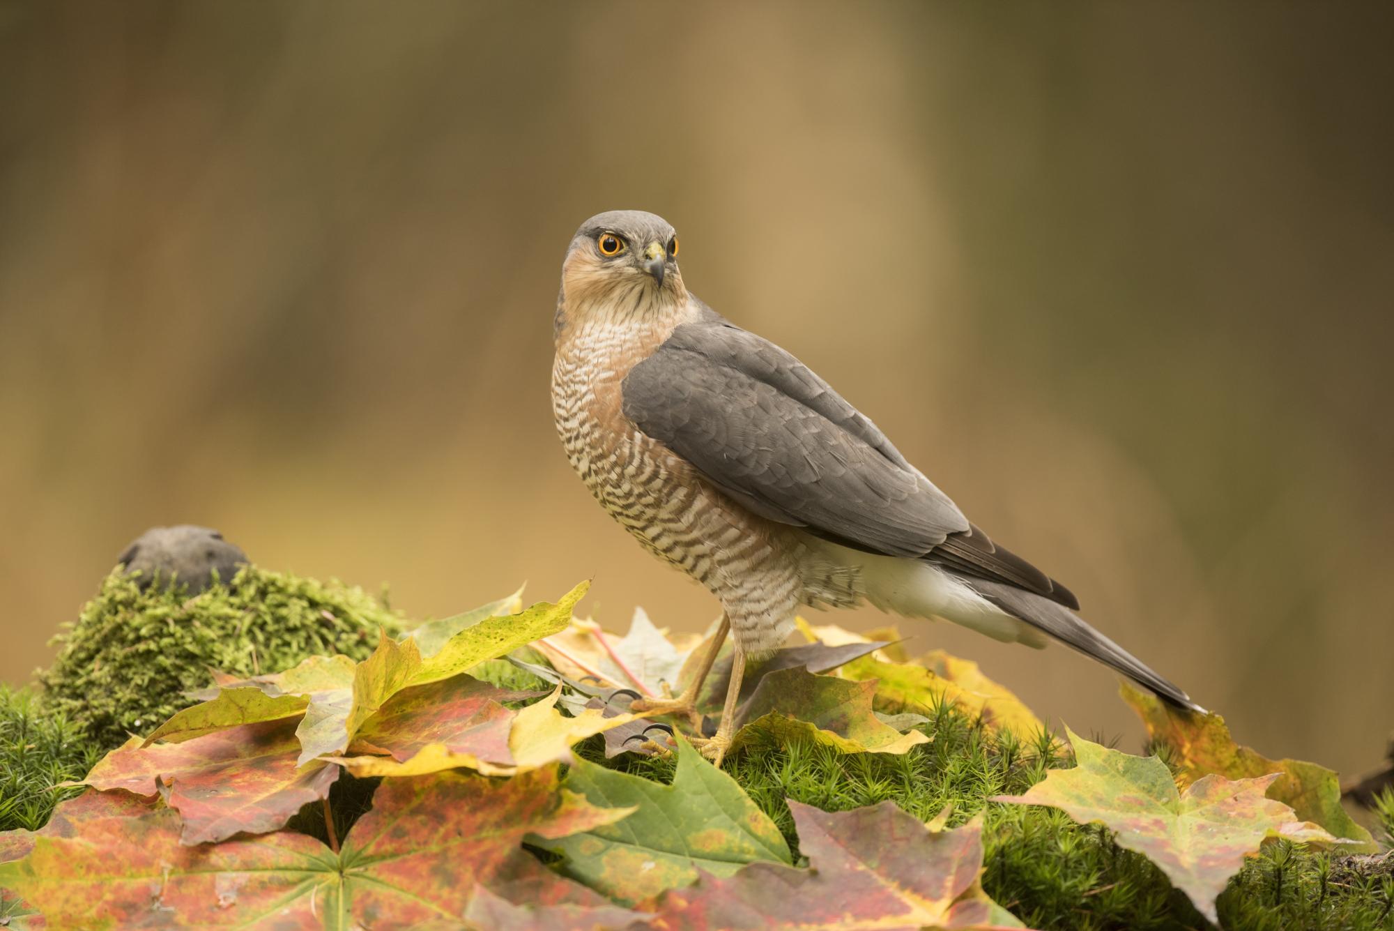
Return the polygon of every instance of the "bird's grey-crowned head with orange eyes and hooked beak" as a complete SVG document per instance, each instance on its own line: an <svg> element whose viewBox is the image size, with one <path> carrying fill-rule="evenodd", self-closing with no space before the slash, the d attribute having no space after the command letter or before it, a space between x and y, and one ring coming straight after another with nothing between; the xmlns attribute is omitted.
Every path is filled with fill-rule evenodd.
<svg viewBox="0 0 1394 931"><path fill-rule="evenodd" d="M672 224L643 210L611 210L581 223L572 237L556 323L560 330L591 315L637 321L686 300Z"/></svg>

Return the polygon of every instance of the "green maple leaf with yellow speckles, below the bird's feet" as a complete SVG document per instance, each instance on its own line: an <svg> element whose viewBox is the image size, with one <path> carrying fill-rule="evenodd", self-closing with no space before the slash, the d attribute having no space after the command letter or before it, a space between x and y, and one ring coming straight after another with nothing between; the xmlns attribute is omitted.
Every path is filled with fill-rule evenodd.
<svg viewBox="0 0 1394 931"><path fill-rule="evenodd" d="M634 807L620 822L539 843L566 854L567 875L620 905L689 885L698 871L726 877L747 863L790 863L775 822L682 737L672 785L584 760L565 785L594 804Z"/></svg>

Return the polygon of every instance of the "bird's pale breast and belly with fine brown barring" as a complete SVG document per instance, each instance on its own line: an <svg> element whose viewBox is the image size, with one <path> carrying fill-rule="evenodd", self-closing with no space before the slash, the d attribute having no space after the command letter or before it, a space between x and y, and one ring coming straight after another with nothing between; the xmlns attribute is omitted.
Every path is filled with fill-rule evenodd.
<svg viewBox="0 0 1394 931"><path fill-rule="evenodd" d="M611 517L717 595L743 648L774 649L806 601L809 553L799 535L708 485L622 411L625 375L672 329L587 322L559 339L556 429L572 468Z"/></svg>

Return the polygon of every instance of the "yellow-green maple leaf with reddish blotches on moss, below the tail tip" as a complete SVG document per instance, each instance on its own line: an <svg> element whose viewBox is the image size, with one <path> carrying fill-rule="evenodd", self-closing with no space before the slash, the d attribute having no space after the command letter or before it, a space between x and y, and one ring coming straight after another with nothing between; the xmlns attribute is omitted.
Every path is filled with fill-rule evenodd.
<svg viewBox="0 0 1394 931"><path fill-rule="evenodd" d="M1216 896L1270 833L1298 822L1292 808L1264 797L1277 774L1230 780L1209 775L1177 792L1157 757L1133 757L1069 732L1078 765L1048 769L1025 796L993 801L1061 808L1082 824L1098 821L1121 847L1142 853L1211 923Z"/></svg>

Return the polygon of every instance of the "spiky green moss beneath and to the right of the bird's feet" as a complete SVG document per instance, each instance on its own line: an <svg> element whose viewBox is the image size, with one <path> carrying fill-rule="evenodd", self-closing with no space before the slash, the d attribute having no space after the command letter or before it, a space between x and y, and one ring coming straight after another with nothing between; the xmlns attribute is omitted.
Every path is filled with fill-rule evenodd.
<svg viewBox="0 0 1394 931"><path fill-rule="evenodd" d="M1160 870L1119 847L1104 828L1076 824L1057 808L987 801L995 794L1022 794L1046 776L1046 769L1072 765L1064 744L1048 734L1022 740L1009 732L988 732L952 705L928 714L921 729L931 743L903 755L842 755L811 743L756 744L729 757L726 771L775 820L795 850L797 835L785 799L828 811L889 799L926 821L951 804L951 825L984 811L983 888L1032 928L1209 927ZM673 761L665 757L605 761L599 739L587 743L583 755L658 782L671 782L673 775ZM1224 927L1394 931L1383 885L1394 857L1383 867L1383 877L1377 860L1333 857L1291 845L1264 847L1221 896Z"/></svg>

